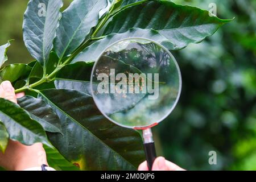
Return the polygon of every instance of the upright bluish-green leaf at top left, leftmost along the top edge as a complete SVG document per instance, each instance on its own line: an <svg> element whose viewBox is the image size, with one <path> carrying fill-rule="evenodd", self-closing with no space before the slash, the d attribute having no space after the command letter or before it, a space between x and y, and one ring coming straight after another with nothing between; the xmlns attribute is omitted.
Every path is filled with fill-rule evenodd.
<svg viewBox="0 0 256 182"><path fill-rule="evenodd" d="M23 38L28 51L46 66L59 26L61 0L30 0L24 14Z"/></svg>

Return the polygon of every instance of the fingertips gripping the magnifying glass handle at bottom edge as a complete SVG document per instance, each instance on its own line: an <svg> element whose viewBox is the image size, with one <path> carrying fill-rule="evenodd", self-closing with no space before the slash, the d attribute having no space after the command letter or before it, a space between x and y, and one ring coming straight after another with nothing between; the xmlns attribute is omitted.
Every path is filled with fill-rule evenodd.
<svg viewBox="0 0 256 182"><path fill-rule="evenodd" d="M139 165L138 171L148 171L147 162ZM152 166L152 171L185 171L185 169L176 164L164 159L163 157L156 158Z"/></svg>

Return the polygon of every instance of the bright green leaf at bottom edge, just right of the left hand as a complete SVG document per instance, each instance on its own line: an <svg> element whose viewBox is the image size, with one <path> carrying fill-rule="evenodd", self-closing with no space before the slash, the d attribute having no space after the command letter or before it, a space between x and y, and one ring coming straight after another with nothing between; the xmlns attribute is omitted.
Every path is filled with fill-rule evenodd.
<svg viewBox="0 0 256 182"><path fill-rule="evenodd" d="M79 171L79 168L68 162L56 148L44 145L44 150L46 151L47 162L50 167L57 171Z"/></svg>

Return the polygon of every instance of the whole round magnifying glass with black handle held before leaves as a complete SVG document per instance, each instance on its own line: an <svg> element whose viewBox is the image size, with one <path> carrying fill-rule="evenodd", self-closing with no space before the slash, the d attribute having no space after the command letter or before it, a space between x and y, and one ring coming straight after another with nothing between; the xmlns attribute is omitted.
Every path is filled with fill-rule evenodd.
<svg viewBox="0 0 256 182"><path fill-rule="evenodd" d="M144 38L128 38L105 49L90 78L98 109L113 123L142 130L148 169L156 158L151 127L171 112L181 93L179 66L168 49Z"/></svg>

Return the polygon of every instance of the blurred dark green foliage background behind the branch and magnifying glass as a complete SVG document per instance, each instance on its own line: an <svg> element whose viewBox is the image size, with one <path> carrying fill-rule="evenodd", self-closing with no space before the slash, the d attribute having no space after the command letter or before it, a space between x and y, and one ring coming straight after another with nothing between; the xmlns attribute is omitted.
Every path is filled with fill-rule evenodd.
<svg viewBox="0 0 256 182"><path fill-rule="evenodd" d="M32 57L23 43L27 0L0 0L0 44L15 39L10 63ZM65 0L64 7L71 0ZM256 1L175 0L210 10L233 22L200 44L174 53L183 75L183 91L173 113L154 129L158 155L185 169L256 170ZM208 163L217 152L217 165Z"/></svg>

